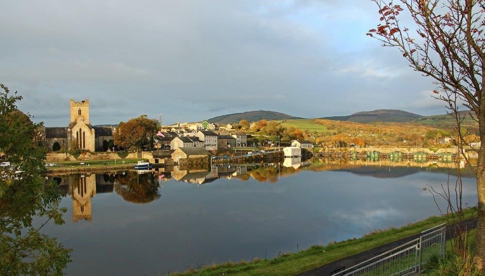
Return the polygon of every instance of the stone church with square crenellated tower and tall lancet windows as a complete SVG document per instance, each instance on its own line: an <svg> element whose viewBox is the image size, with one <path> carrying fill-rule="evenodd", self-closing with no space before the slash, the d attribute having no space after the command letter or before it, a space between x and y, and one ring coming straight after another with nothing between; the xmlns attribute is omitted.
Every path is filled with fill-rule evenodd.
<svg viewBox="0 0 485 276"><path fill-rule="evenodd" d="M61 147L71 148L71 142L77 142L78 148L91 152L103 151L104 141L113 140L110 127L92 126L89 122L89 100L69 103L70 123L67 127L46 127L45 144L49 150Z"/></svg>

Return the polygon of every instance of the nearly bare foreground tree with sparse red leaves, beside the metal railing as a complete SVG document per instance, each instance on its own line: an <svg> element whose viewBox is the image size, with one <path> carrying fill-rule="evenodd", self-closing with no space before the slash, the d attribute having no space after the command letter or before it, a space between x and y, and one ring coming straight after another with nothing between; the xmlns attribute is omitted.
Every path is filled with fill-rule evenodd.
<svg viewBox="0 0 485 276"><path fill-rule="evenodd" d="M434 97L445 102L457 124L463 115L460 103L471 110L485 141L485 0L372 0L379 9L381 23L367 35L383 46L396 47L415 71L431 77L436 85ZM412 31L402 26L401 12L407 10L414 20ZM460 139L463 141L463 139ZM477 150L478 225L475 264L485 272L485 142ZM458 208L461 211L461 207Z"/></svg>

